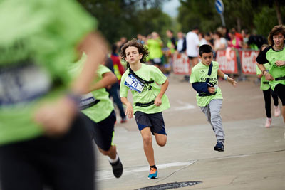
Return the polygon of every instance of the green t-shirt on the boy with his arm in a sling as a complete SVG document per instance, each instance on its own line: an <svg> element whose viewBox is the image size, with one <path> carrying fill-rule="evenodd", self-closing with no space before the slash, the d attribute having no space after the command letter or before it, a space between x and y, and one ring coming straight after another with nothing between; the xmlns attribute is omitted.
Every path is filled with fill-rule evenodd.
<svg viewBox="0 0 285 190"><path fill-rule="evenodd" d="M199 96L199 93L196 95L197 105L199 107L205 107L209 104L211 100L220 99L222 100L222 90L218 86L218 70L219 70L219 63L216 61L212 61L212 73L208 76L209 66L204 65L202 62L198 63L192 68L192 73L190 75L190 83L198 83L198 82L206 82L206 79L209 78L209 82L213 83L214 86L217 86L216 94L209 95L209 96Z"/></svg>

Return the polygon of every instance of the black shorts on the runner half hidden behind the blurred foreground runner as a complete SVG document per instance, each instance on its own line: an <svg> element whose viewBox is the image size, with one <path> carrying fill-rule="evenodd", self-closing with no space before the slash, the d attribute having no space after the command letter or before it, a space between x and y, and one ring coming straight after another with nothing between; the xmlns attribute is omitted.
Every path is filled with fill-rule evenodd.
<svg viewBox="0 0 285 190"><path fill-rule="evenodd" d="M115 111L113 110L110 115L100 122L94 122L86 117L87 128L90 132L91 139L94 139L95 143L100 149L108 151L112 145L114 125L116 121Z"/></svg>

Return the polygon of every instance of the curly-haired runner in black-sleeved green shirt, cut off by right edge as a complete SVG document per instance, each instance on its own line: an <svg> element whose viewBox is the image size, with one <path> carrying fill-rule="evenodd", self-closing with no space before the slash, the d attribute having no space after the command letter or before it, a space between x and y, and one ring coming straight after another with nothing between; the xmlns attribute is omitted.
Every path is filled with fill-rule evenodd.
<svg viewBox="0 0 285 190"><path fill-rule="evenodd" d="M285 26L274 26L268 36L269 47L257 56L257 63L261 73L269 80L272 90L282 102L282 115L285 123ZM264 64L269 63L268 70Z"/></svg>

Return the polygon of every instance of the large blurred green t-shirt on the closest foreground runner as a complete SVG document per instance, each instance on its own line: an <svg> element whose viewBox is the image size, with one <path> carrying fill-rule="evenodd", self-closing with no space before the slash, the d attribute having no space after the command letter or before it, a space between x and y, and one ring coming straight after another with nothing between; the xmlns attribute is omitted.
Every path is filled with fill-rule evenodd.
<svg viewBox="0 0 285 190"><path fill-rule="evenodd" d="M36 75L33 68L21 73L19 81L29 81L24 84L26 92L30 92L29 88L38 90L34 89L34 83L39 86L44 81L51 83L50 88L38 98L9 105L3 104L7 94L23 98L24 94L19 93L20 86L9 84L11 88L0 89L0 144L43 134L42 128L33 121L34 112L43 100L58 97L59 91L65 90L70 83L67 68L77 57L76 45L87 33L93 31L95 25L96 21L76 1L0 2L0 68L16 67L21 73L26 60L36 65L36 72L41 68L41 73L46 73L46 78ZM15 70L13 72L9 76L10 82L17 81L19 77ZM6 78L3 73L0 73L0 77ZM0 80L0 88L3 86ZM9 92L10 89L14 89L14 92Z"/></svg>

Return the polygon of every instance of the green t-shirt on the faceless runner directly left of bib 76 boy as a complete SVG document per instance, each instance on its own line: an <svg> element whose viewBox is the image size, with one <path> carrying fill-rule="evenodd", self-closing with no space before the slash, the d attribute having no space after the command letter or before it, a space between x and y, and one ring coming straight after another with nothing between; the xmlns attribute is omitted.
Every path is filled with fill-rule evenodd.
<svg viewBox="0 0 285 190"><path fill-rule="evenodd" d="M83 63L86 61L86 54L83 53L83 56L81 60L78 60L78 62L74 63L71 68L69 69L69 73L71 75L78 75L81 70ZM104 73L112 72L109 68L105 67L104 65L99 65L97 70L97 78L93 81L93 83L97 83L99 80L103 78ZM91 95L92 94L92 95ZM84 110L81 110L85 115L87 115L91 120L94 122L100 122L102 120L105 120L110 113L114 110L113 102L109 98L109 93L105 88L100 88L98 90L94 90L89 93L92 97L95 97L95 100L100 100L97 104L88 107Z"/></svg>

